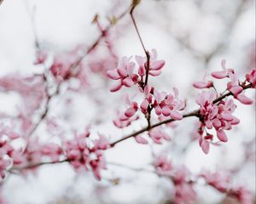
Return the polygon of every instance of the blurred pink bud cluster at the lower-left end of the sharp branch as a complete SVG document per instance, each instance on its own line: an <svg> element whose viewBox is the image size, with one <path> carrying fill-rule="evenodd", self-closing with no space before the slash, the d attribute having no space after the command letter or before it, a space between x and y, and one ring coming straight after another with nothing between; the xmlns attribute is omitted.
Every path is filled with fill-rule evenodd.
<svg viewBox="0 0 256 204"><path fill-rule="evenodd" d="M101 179L101 170L106 169L106 163L103 156L103 150L109 148L108 140L99 134L99 138L90 139L90 132L76 135L74 139L64 142L65 156L67 161L76 170L92 170L96 179Z"/></svg>

